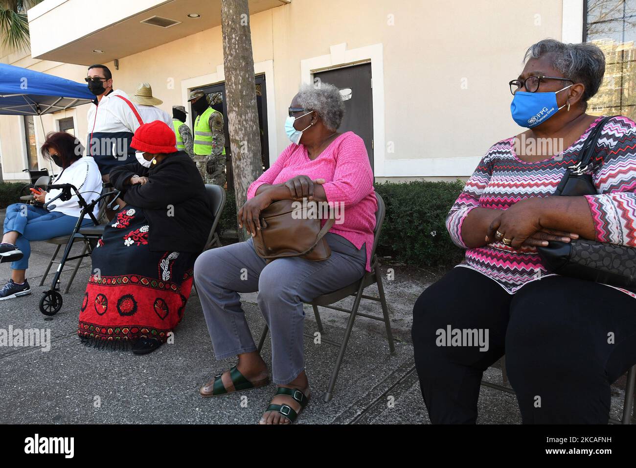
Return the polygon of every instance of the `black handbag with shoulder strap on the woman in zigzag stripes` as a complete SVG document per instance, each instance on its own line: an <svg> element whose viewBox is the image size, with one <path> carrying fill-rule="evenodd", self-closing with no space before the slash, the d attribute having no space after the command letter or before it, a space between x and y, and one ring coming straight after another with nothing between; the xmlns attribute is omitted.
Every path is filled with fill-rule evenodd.
<svg viewBox="0 0 636 468"><path fill-rule="evenodd" d="M565 171L555 195L581 197L596 195L591 174L592 157L598 136L612 117L605 117L586 139L579 158ZM581 280L595 281L636 292L636 248L586 239L570 242L550 241L548 246L537 247L549 271Z"/></svg>

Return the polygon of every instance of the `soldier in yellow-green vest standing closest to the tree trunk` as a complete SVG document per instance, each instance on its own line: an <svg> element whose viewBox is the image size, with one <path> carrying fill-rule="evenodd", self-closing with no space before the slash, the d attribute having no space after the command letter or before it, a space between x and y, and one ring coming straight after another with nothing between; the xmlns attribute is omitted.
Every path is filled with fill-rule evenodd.
<svg viewBox="0 0 636 468"><path fill-rule="evenodd" d="M192 108L198 113L194 127L194 160L205 183L225 186L225 134L223 114L212 109L205 93L190 93Z"/></svg>

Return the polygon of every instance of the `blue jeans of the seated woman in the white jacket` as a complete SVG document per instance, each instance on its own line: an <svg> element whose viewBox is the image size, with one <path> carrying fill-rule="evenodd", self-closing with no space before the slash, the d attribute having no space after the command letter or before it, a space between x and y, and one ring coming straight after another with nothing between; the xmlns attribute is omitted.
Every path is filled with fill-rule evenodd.
<svg viewBox="0 0 636 468"><path fill-rule="evenodd" d="M22 259L11 262L11 269L25 270L29 267L31 245L29 241L45 241L57 236L67 236L73 232L78 222L76 216L64 215L59 211L46 211L24 203L14 203L6 208L4 218L4 234L16 231L18 240L15 245L24 253ZM85 218L82 225L90 224L90 217Z"/></svg>

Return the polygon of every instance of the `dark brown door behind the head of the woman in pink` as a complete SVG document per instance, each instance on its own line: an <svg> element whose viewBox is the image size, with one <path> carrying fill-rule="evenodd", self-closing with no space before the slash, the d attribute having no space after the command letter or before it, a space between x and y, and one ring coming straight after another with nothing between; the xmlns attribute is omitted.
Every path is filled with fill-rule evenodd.
<svg viewBox="0 0 636 468"><path fill-rule="evenodd" d="M371 64L354 65L314 73L314 82L331 83L345 99L345 117L339 132L354 132L364 140L373 169L373 98L371 96Z"/></svg>

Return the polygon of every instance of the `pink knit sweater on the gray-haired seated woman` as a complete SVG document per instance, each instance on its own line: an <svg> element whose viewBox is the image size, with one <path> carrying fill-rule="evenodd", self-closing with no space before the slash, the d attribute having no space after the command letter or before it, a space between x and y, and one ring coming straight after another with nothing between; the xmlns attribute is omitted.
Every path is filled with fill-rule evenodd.
<svg viewBox="0 0 636 468"><path fill-rule="evenodd" d="M247 199L254 197L263 183L284 183L300 175L325 180L322 187L327 201L329 204L342 203L340 206L343 207L343 223L334 224L329 232L349 240L357 249L366 243L366 270L371 271L378 205L373 191L373 171L363 139L354 132L343 133L314 160L309 159L305 146L292 143L262 176L252 182Z"/></svg>

